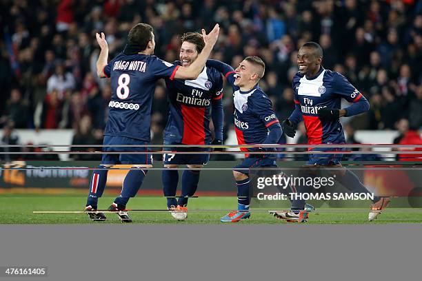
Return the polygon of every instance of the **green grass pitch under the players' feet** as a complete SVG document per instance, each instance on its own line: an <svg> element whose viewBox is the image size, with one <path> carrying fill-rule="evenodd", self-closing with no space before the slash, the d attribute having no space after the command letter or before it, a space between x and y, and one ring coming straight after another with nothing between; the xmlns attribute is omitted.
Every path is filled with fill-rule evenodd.
<svg viewBox="0 0 422 281"><path fill-rule="evenodd" d="M114 197L104 196L100 209L107 209ZM82 195L21 195L0 196L0 224L121 224L115 214L106 214L106 222L92 222L86 214L32 214L32 211L82 211L86 196ZM369 205L368 205L369 206ZM165 209L165 198L139 196L132 198L128 209ZM191 198L188 219L174 220L167 211L133 211L130 216L137 224L220 224L219 218L227 211L194 211L201 209L225 210L237 207L235 197ZM307 224L388 224L421 223L422 209L388 208L374 222L368 221L368 208L335 209L322 206L310 214ZM252 209L252 216L238 225L285 224L264 209Z"/></svg>

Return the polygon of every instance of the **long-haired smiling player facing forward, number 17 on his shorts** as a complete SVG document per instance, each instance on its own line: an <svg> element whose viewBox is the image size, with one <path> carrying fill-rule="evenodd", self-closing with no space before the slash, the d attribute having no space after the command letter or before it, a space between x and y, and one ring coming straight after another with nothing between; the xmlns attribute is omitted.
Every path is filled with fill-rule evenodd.
<svg viewBox="0 0 422 281"><path fill-rule="evenodd" d="M202 35L188 32L181 37L180 61L175 65L189 67L203 50L205 43ZM170 113L164 131L165 150L172 152L205 151L172 147L171 145L209 145L211 143L210 118L214 123L214 145L223 143L223 77L214 68L204 67L194 80L165 79L168 92ZM194 196L199 183L199 174L203 165L208 163L209 154L163 154L162 173L164 196L170 214L177 220L188 216L188 196ZM179 182L179 165L187 165L182 174L181 197L176 200Z"/></svg>

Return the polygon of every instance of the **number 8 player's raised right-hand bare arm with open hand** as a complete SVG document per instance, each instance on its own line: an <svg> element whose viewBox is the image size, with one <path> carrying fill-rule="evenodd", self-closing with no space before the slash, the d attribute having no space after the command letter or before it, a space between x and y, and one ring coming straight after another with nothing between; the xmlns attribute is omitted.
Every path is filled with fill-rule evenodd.
<svg viewBox="0 0 422 281"><path fill-rule="evenodd" d="M205 30L202 30L203 41L205 41L205 47L202 52L198 55L197 59L189 65L188 67L179 67L174 74L174 79L184 79L184 80L193 80L197 79L203 67L205 67L205 62L210 56L212 48L214 47L217 39L219 37L220 27L217 23L209 34L205 34Z"/></svg>

